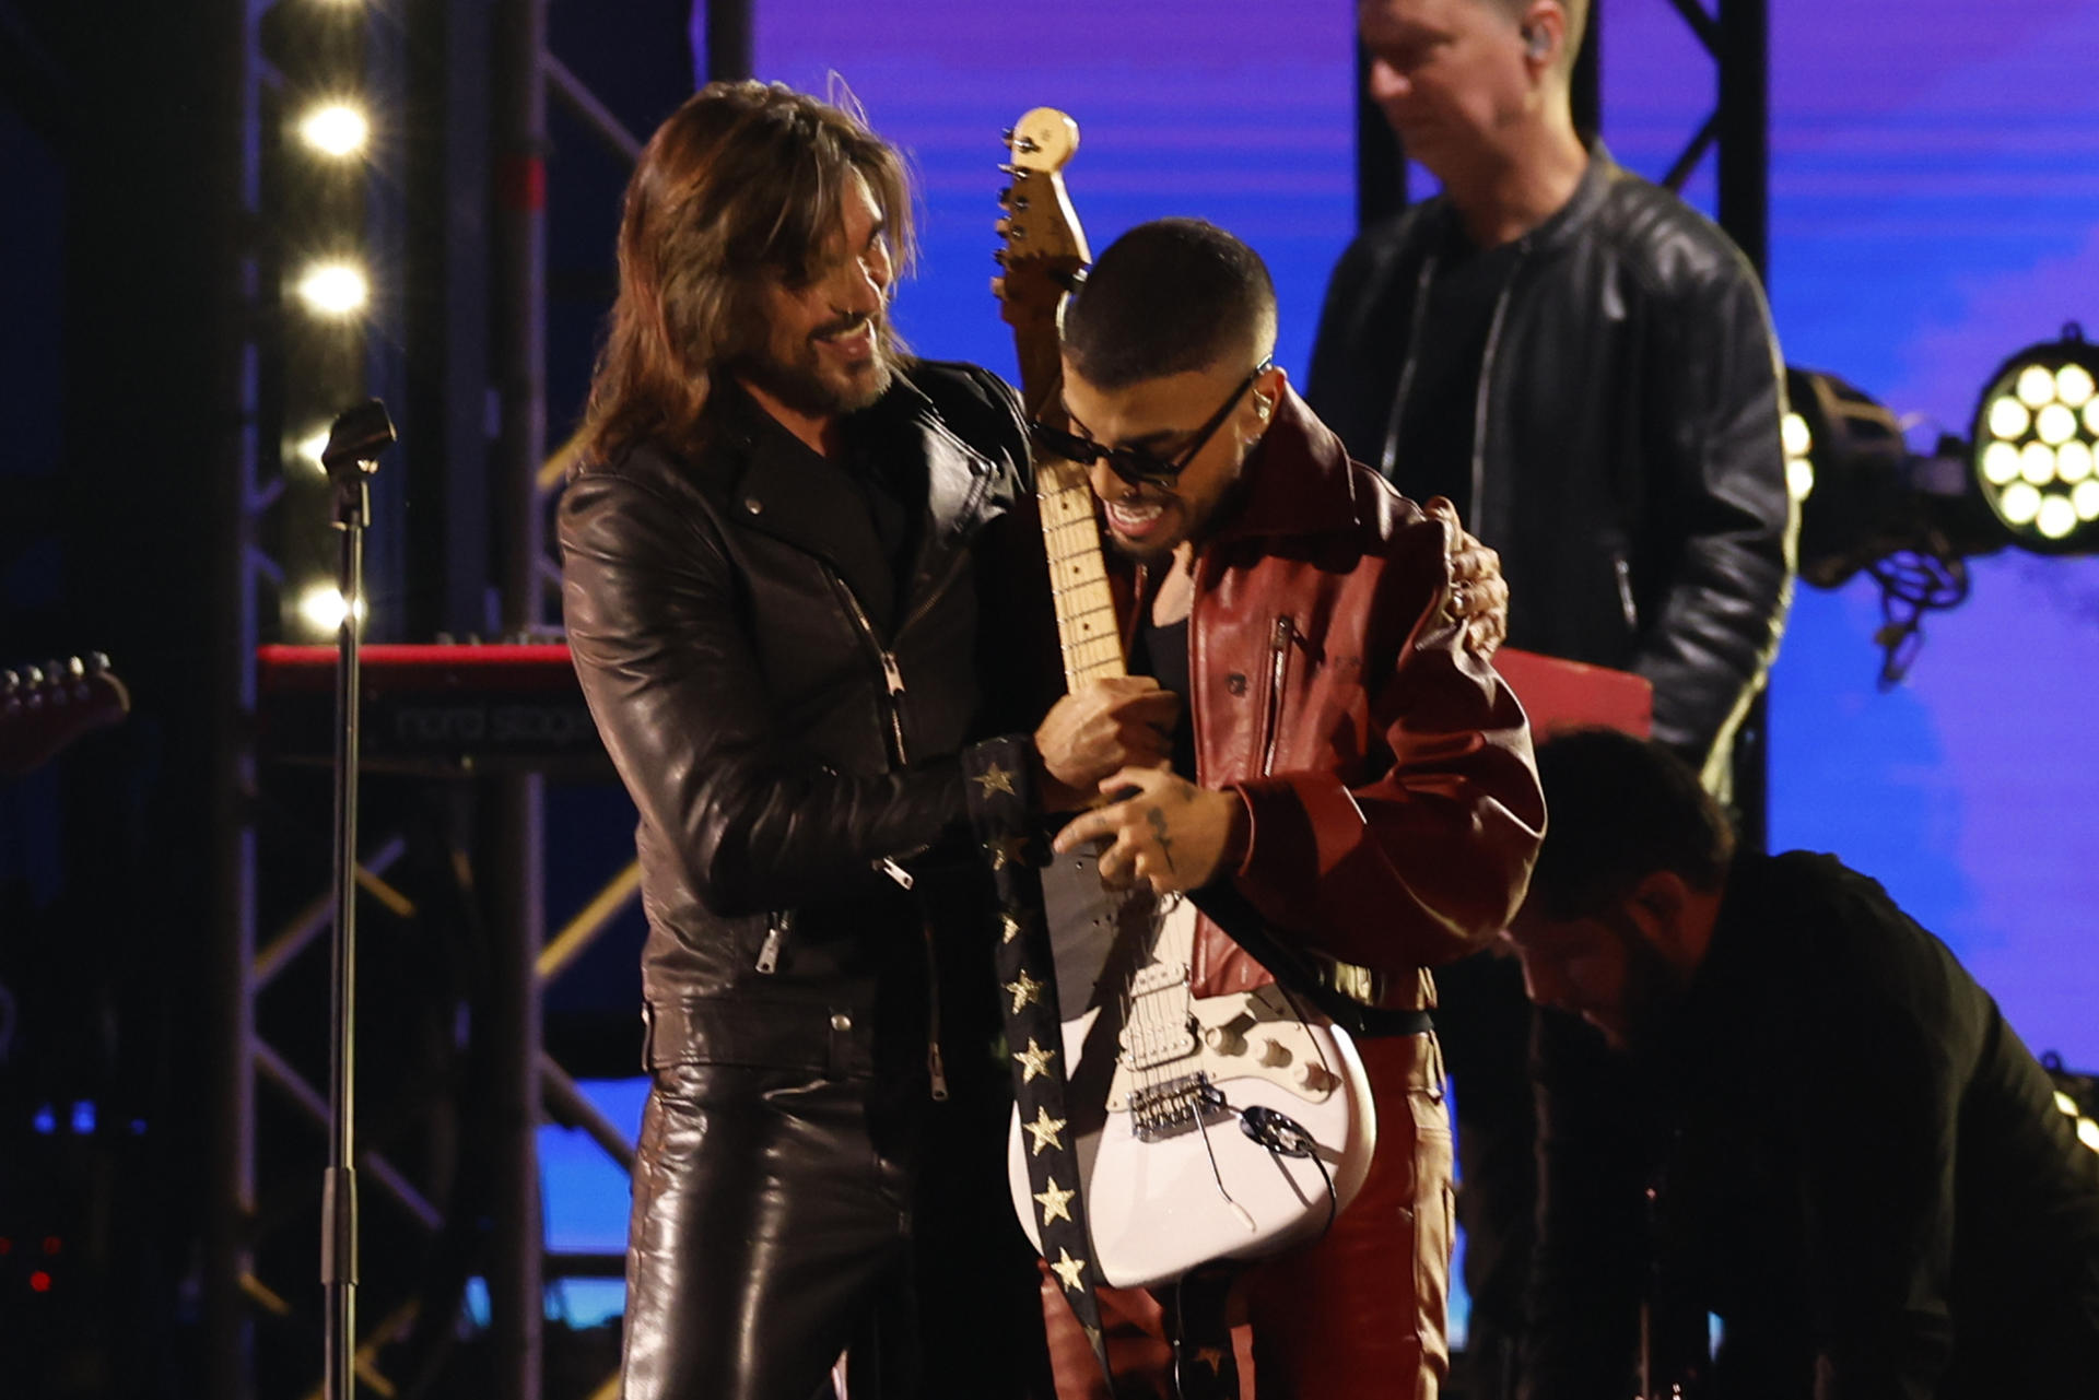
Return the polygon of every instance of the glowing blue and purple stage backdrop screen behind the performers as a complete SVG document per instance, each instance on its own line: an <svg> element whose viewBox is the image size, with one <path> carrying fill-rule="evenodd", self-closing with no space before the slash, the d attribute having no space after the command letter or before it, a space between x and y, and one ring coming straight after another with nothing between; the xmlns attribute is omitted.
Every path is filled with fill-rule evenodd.
<svg viewBox="0 0 2099 1400"><path fill-rule="evenodd" d="M1667 0L1602 6L1604 134L1654 178L1711 109L1713 69ZM915 160L924 267L898 321L917 351L1012 372L987 292L999 128L1054 105L1083 128L1068 174L1094 246L1161 214L1232 229L1270 260L1278 359L1301 376L1354 227L1352 17L1348 0L760 0L758 71L814 92L835 73ZM1929 445L1967 432L2013 351L2080 317L2099 334L2093 36L2099 0L1774 0L1788 361L1866 388ZM1711 212L1711 166L1690 195ZM1772 686L1772 840L1877 875L2036 1052L2099 1068L2099 565L2007 552L1973 573L1887 695L1872 586L1799 594ZM586 1194L575 1217L550 1203L550 1224L615 1247L623 1190Z"/></svg>

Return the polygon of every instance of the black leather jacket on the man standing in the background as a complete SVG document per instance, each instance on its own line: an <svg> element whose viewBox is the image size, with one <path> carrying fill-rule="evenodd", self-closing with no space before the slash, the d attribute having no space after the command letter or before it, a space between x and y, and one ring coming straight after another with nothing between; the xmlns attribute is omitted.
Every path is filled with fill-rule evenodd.
<svg viewBox="0 0 2099 1400"><path fill-rule="evenodd" d="M1308 399L1411 489L1392 445L1442 197L1335 267ZM1704 764L1778 649L1797 510L1782 365L1755 271L1667 191L1591 147L1568 206L1518 246L1473 413L1471 529L1501 550L1509 644L1654 682L1654 737Z"/></svg>

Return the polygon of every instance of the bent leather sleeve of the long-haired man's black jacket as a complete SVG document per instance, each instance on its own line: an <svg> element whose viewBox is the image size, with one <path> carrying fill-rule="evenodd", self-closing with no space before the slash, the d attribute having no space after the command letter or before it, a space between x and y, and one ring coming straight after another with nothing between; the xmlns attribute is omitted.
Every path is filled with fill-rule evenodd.
<svg viewBox="0 0 2099 1400"><path fill-rule="evenodd" d="M592 718L642 821L716 915L934 844L961 821L961 768L842 777L798 758L739 621L716 525L693 504L586 472L560 504L563 609Z"/></svg>

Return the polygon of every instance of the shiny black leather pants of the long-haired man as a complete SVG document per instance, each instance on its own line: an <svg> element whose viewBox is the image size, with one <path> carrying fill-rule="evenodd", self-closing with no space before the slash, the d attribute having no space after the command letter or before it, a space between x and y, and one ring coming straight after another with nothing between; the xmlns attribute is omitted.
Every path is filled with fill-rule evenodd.
<svg viewBox="0 0 2099 1400"><path fill-rule="evenodd" d="M959 1098L932 1104L924 1079L657 1070L634 1165L623 1398L812 1400L846 1348L854 1400L1045 1394L1005 1112Z"/></svg>

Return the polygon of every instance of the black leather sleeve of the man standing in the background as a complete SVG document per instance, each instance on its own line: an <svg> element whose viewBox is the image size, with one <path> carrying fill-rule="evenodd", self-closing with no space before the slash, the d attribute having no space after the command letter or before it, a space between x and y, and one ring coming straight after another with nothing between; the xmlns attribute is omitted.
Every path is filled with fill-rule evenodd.
<svg viewBox="0 0 2099 1400"><path fill-rule="evenodd" d="M1654 682L1654 739L1704 766L1778 651L1799 510L1780 439L1784 369L1753 273L1732 258L1673 319L1652 418L1652 518L1671 535L1652 554L1669 573L1633 670Z"/></svg>

